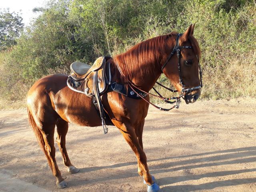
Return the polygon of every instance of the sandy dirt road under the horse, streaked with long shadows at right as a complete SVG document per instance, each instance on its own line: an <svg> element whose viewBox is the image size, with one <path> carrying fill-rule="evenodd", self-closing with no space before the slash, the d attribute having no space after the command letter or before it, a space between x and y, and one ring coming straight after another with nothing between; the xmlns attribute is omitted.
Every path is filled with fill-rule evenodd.
<svg viewBox="0 0 256 192"><path fill-rule="evenodd" d="M182 103L180 109L150 108L144 150L150 173L164 192L256 191L256 99ZM56 147L68 187L55 178L28 126L25 109L0 111L1 192L145 192L136 158L120 132L70 125L67 149L80 172L70 175Z"/></svg>

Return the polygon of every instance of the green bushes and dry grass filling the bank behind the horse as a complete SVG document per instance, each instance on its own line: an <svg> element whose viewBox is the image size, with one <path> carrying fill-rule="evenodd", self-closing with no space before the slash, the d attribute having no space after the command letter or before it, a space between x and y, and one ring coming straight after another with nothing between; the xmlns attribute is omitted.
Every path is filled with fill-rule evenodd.
<svg viewBox="0 0 256 192"><path fill-rule="evenodd" d="M50 0L34 11L40 16L14 38L16 45L0 53L4 98L25 98L35 80L67 72L74 61L92 63L142 40L184 32L191 23L202 49L202 97L256 96L252 0ZM160 81L169 84L164 77Z"/></svg>

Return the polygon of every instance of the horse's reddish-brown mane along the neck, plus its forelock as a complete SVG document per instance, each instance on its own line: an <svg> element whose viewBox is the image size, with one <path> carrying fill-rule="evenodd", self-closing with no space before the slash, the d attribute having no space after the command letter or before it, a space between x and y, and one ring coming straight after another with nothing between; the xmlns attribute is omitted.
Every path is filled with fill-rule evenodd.
<svg viewBox="0 0 256 192"><path fill-rule="evenodd" d="M156 72L156 70L161 70L160 62L166 52L166 40L173 35L176 36L176 34L178 33L172 32L145 40L136 44L127 52L114 56L112 62L115 65L115 73L122 73L117 81L127 84L138 73L141 76L145 76ZM196 38L189 36L189 41L193 46L194 52L200 58L201 51ZM120 71L118 68L120 68Z"/></svg>

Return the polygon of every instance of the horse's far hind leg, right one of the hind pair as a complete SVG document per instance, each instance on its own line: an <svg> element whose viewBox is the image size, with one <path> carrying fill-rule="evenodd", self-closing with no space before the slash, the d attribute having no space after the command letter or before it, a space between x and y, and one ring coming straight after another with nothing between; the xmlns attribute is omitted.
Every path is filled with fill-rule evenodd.
<svg viewBox="0 0 256 192"><path fill-rule="evenodd" d="M56 126L57 126L56 141L59 146L60 153L62 155L63 163L65 166L68 167L69 173L75 174L79 171L79 169L71 164L70 159L68 157L67 150L66 150L66 134L68 132L68 122L59 118L56 122Z"/></svg>

